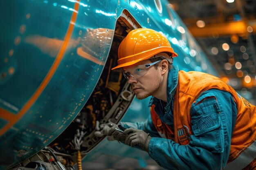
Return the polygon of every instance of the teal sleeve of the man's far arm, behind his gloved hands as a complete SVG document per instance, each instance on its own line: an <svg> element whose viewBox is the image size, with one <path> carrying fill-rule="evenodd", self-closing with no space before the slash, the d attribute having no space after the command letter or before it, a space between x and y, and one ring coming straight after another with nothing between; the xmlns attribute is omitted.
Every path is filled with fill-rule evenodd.
<svg viewBox="0 0 256 170"><path fill-rule="evenodd" d="M157 130L155 129L155 126L152 122L150 114L148 116L148 119L146 119L146 121L144 122L136 122L136 123L120 122L120 124L125 128L134 128L134 129L143 130L144 132L149 133L151 137L160 137Z"/></svg>

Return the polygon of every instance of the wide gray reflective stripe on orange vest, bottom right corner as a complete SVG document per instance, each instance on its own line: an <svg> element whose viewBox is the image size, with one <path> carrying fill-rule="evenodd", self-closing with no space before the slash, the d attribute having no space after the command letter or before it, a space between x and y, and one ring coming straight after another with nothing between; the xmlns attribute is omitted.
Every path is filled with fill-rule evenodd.
<svg viewBox="0 0 256 170"><path fill-rule="evenodd" d="M225 170L242 170L256 158L256 141L243 151L234 161L227 164Z"/></svg>

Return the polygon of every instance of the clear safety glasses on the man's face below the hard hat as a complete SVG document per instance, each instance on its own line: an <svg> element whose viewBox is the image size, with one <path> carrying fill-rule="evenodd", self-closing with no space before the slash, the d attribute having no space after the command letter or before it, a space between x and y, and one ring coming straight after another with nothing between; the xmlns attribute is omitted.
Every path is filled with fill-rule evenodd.
<svg viewBox="0 0 256 170"><path fill-rule="evenodd" d="M132 68L129 68L129 71L130 71L130 72L126 72L126 73L124 72L124 70L122 70L122 71L123 71L123 74L124 74L124 77L125 77L127 80L129 79L130 76L131 76L132 78L137 79L137 78L139 78L139 77L145 75L145 74L148 72L148 68L149 68L149 67L151 67L151 66L153 66L153 65L155 65L155 64L157 64L157 63L159 63L159 62L161 62L161 61L162 61L162 60L158 60L158 61L153 62L153 63L150 63L150 64L142 64L142 65L134 66L134 67L132 67Z"/></svg>

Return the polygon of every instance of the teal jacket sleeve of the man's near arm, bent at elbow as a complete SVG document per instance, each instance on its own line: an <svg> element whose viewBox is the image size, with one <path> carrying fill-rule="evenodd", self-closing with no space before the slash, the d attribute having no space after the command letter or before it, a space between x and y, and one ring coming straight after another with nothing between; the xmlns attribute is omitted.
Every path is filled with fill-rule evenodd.
<svg viewBox="0 0 256 170"><path fill-rule="evenodd" d="M153 137L149 156L171 170L220 170L229 157L237 109L232 95L211 89L191 106L192 135L189 145Z"/></svg>

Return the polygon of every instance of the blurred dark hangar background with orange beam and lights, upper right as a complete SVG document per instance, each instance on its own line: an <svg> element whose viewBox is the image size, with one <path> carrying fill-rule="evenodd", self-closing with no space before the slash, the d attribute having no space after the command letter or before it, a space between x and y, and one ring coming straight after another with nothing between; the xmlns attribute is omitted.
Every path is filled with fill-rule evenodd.
<svg viewBox="0 0 256 170"><path fill-rule="evenodd" d="M255 105L256 0L169 2L220 77Z"/></svg>

